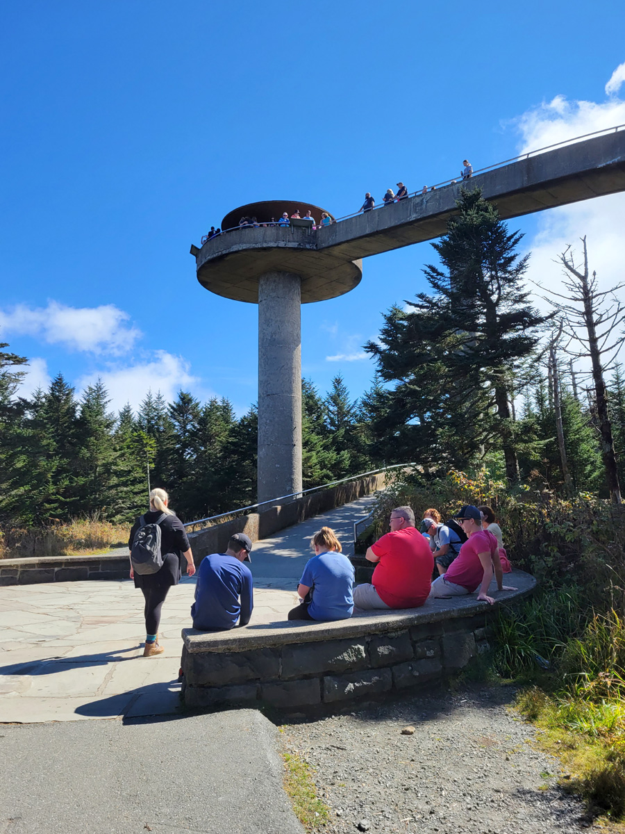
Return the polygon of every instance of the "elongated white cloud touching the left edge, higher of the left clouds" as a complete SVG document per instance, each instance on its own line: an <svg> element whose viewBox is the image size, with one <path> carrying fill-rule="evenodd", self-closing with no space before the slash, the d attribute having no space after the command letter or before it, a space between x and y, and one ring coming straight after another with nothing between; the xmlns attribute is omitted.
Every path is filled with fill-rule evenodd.
<svg viewBox="0 0 625 834"><path fill-rule="evenodd" d="M0 309L0 327L8 333L33 336L70 350L123 354L133 347L141 331L126 324L130 316L114 304L67 307L49 301L47 307L18 304Z"/></svg>

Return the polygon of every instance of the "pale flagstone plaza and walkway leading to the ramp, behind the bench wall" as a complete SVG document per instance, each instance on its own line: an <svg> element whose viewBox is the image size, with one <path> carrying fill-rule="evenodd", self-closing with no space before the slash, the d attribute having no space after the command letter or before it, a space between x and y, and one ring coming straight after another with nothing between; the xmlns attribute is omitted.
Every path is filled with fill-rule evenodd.
<svg viewBox="0 0 625 834"><path fill-rule="evenodd" d="M254 545L253 623L286 619L325 524L351 552L353 521L374 498L354 501ZM165 651L143 658L143 596L130 580L0 588L0 722L164 715L180 711L180 631L190 625L195 580L163 605Z"/></svg>

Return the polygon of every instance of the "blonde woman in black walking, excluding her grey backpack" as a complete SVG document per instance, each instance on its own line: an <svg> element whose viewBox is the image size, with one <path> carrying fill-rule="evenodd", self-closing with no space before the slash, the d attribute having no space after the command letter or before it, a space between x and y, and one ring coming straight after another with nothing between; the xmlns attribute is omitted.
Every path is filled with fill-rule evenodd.
<svg viewBox="0 0 625 834"><path fill-rule="evenodd" d="M150 510L135 521L128 539L128 550L132 553L134 537L141 527L158 524L161 528L163 566L156 573L138 574L133 570L132 558L130 560L130 578L134 580L135 588L141 588L145 597L146 640L143 657L160 655L162 651L165 651L163 646L158 644L158 625L168 590L172 585L178 585L182 576L183 560L186 560L187 574L193 576L195 573L191 545L189 545L183 523L168 508L168 503L169 498L165 490L152 490Z"/></svg>

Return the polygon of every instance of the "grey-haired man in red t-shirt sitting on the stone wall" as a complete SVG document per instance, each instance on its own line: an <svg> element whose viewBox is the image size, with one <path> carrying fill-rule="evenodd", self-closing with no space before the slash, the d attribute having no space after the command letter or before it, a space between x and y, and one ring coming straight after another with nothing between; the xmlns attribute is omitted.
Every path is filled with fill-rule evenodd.
<svg viewBox="0 0 625 834"><path fill-rule="evenodd" d="M396 507L390 525L391 532L365 554L377 565L371 584L353 590L354 605L360 609L418 608L428 599L434 559L428 542L414 526L413 510Z"/></svg>

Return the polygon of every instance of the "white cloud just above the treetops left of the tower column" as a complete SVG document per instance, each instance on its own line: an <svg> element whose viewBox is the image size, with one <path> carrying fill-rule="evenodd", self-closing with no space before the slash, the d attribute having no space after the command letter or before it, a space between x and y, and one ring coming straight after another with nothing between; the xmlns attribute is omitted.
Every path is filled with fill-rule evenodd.
<svg viewBox="0 0 625 834"><path fill-rule="evenodd" d="M153 394L160 391L168 402L176 399L179 389L192 389L198 395L204 394L198 391L199 380L189 370L190 365L182 356L157 350L153 359L147 362L82 376L77 382L77 388L85 389L87 385L97 382L98 378L102 379L112 409L122 409L126 403L137 409L150 389Z"/></svg>

